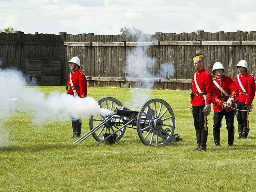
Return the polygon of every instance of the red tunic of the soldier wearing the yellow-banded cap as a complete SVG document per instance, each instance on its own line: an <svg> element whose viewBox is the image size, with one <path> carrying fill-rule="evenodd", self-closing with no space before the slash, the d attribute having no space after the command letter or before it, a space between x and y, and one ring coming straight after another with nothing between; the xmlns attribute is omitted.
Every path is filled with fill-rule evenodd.
<svg viewBox="0 0 256 192"><path fill-rule="evenodd" d="M212 83L212 75L205 70L204 68L202 68L200 71L196 71L196 73L193 74L192 76L192 92L193 93L198 93L198 90L196 88L196 84L194 81L194 75L196 74L196 82L200 88L200 90L203 93L207 93L207 99L206 99L206 103L207 104L211 104L212 103L212 97L213 97L213 83ZM204 96L200 95L200 96L194 96L193 99L191 99L190 103L193 106L200 106L200 105L204 105Z"/></svg>

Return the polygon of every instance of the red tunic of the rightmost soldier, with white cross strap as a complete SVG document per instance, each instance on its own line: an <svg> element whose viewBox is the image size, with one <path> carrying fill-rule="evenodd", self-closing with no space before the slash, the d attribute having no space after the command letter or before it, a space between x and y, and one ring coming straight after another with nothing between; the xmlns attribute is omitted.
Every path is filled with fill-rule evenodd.
<svg viewBox="0 0 256 192"><path fill-rule="evenodd" d="M239 95L235 101L239 100L241 103L245 103L245 105L251 105L255 96L255 80L253 76L247 72L245 72L243 75L241 75L241 73L238 75L247 94ZM239 89L239 93L243 93L244 91L238 83L237 76L235 76L234 81Z"/></svg>

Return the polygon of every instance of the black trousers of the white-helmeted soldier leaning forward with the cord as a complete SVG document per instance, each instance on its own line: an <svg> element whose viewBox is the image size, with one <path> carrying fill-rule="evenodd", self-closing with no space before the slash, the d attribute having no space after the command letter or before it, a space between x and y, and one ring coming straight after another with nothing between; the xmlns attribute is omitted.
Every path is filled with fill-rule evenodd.
<svg viewBox="0 0 256 192"><path fill-rule="evenodd" d="M229 133L235 132L234 126L234 118L235 118L235 110L226 111L223 109L222 111L214 111L213 112L213 132L220 132L221 120L225 116L227 130Z"/></svg>

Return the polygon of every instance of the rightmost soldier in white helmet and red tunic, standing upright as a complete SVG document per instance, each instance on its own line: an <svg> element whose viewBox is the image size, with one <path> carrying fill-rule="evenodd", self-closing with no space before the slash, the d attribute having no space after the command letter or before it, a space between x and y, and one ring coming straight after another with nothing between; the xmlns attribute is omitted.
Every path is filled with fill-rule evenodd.
<svg viewBox="0 0 256 192"><path fill-rule="evenodd" d="M239 74L235 76L235 83L239 89L238 98L236 98L236 105L238 110L238 114L236 116L237 119L237 127L239 137L237 139L246 139L249 133L249 110L252 109L252 101L255 96L255 80L252 75L247 73L248 64L245 60L240 60L236 65L238 68Z"/></svg>

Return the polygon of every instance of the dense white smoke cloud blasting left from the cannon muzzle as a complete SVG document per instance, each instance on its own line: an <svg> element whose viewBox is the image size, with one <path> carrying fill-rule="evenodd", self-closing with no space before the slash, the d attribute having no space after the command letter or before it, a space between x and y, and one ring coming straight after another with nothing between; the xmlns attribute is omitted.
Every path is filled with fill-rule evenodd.
<svg viewBox="0 0 256 192"><path fill-rule="evenodd" d="M9 104L18 99L18 111L31 114L32 120L43 127L45 122L69 120L69 115L75 118L86 118L91 115L109 114L108 109L100 108L92 97L75 98L61 92L51 92L48 97L37 87L28 86L27 78L20 71L0 68L0 147L6 141L8 132L4 129L4 119L11 116ZM14 108L13 108L14 109ZM4 133L4 135L2 134Z"/></svg>

